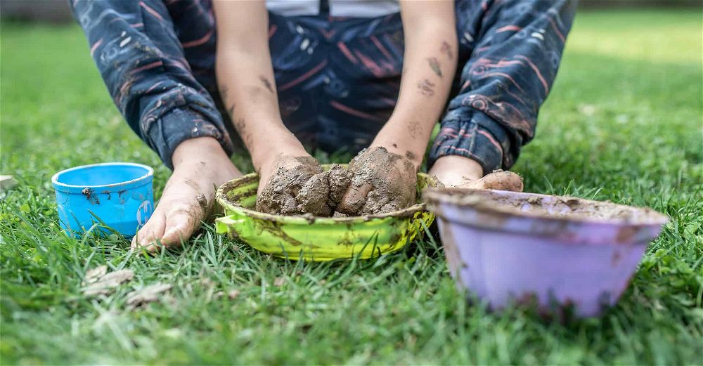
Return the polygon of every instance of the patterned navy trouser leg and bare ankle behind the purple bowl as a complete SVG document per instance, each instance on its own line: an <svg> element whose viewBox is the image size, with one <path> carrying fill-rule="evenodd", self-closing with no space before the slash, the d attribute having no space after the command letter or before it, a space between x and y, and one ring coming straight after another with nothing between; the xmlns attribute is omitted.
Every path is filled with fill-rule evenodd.
<svg viewBox="0 0 703 366"><path fill-rule="evenodd" d="M458 18L460 91L449 101L430 150L430 174L465 185L509 169L534 136L537 113L557 74L576 1L465 1Z"/></svg>

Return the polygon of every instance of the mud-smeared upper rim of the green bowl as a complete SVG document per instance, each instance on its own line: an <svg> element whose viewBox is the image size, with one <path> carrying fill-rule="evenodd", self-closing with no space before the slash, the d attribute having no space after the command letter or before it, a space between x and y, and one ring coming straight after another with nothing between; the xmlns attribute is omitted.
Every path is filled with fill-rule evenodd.
<svg viewBox="0 0 703 366"><path fill-rule="evenodd" d="M323 164L322 166L325 168L328 168L332 166L333 164ZM345 165L345 164L341 164ZM310 223L327 223L327 224L333 224L333 223L361 223L361 222L366 222L366 221L371 221L371 220L377 220L377 219L384 219L384 218L405 218L405 217L412 217L415 215L415 213L420 212L420 211L427 211L427 205L424 202L419 202L417 204L413 204L411 207L408 207L406 209L401 209L397 211L391 211L387 212L385 214L378 214L378 215L364 215L364 216L352 216L352 217L315 217L315 216L283 216L283 215L273 215L273 214L266 214L264 212L259 212L255 211L253 209L247 209L245 207L240 206L239 204L235 204L234 202L231 202L227 195L225 194L229 190L231 190L231 187L233 185L236 185L240 183L241 181L245 180L250 180L253 178L258 178L259 174L258 173L250 173L246 174L244 176L240 176L239 178L235 178L231 181L227 181L226 183L222 184L217 188L217 192L215 193L215 199L219 204L222 205L225 209L230 209L232 211L239 211L241 214L244 214L245 216L251 217L251 218L257 218L259 220L266 220L266 221L273 221L276 223L302 223L302 224L310 224ZM423 178L427 182L427 187L437 187L437 185L440 185L439 181L437 181L437 178L434 176L429 176L425 173L418 173L418 178ZM421 197L421 196L420 196Z"/></svg>

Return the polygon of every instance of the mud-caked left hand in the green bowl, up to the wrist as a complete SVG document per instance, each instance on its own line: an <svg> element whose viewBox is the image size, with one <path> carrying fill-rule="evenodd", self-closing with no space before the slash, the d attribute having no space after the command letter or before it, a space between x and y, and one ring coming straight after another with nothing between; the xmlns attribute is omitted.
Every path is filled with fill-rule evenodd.
<svg viewBox="0 0 703 366"><path fill-rule="evenodd" d="M257 211L268 214L329 216L329 184L320 163L309 155L278 155L262 168Z"/></svg>

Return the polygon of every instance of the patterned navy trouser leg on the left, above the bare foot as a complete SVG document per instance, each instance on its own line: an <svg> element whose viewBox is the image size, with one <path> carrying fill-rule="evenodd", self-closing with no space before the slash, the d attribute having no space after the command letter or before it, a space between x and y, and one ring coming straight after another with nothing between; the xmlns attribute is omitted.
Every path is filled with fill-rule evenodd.
<svg viewBox="0 0 703 366"><path fill-rule="evenodd" d="M214 101L183 63L163 1L71 1L70 6L115 105L167 166L173 167L174 149L189 138L216 138L224 152L232 152Z"/></svg>

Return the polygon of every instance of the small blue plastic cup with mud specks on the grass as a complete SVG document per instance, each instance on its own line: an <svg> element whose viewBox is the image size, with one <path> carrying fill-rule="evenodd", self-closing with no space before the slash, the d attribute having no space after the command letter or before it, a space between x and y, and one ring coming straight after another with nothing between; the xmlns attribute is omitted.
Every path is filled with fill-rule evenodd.
<svg viewBox="0 0 703 366"><path fill-rule="evenodd" d="M79 237L94 224L133 237L154 211L154 169L102 163L59 171L51 177L61 228Z"/></svg>

